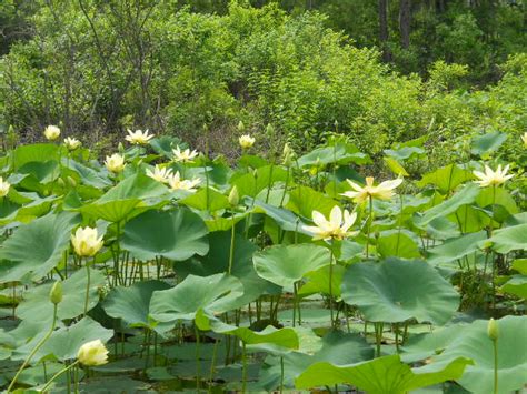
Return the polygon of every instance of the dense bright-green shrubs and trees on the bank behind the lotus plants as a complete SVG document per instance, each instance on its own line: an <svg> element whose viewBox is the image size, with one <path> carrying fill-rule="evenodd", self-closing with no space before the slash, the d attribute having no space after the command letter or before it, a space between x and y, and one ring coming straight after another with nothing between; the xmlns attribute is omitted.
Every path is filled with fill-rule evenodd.
<svg viewBox="0 0 527 394"><path fill-rule="evenodd" d="M398 1L382 43L375 2L189 3L3 2L4 129L27 141L60 123L107 147L135 127L229 154L241 120L304 150L331 131L371 154L426 135L447 162L468 134L526 130L520 3L416 2L408 49Z"/></svg>

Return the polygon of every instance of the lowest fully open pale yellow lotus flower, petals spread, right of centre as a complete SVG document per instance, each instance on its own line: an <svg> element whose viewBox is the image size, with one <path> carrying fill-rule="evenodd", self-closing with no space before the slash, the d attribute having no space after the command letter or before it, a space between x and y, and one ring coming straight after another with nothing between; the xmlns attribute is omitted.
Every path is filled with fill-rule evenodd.
<svg viewBox="0 0 527 394"><path fill-rule="evenodd" d="M356 220L356 212L349 213L347 210L342 212L338 205L335 205L329 213L329 220L326 220L326 216L320 212L312 211L312 221L316 225L305 225L302 228L314 234L314 240L342 240L351 235L348 230Z"/></svg>

